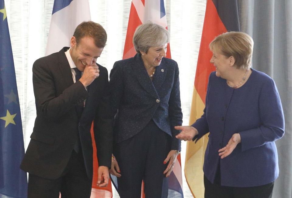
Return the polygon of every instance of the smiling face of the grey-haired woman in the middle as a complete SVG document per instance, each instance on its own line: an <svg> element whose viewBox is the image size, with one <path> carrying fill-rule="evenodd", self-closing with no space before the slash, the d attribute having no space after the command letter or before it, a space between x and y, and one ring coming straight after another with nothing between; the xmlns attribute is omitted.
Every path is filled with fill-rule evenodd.
<svg viewBox="0 0 292 198"><path fill-rule="evenodd" d="M141 52L145 67L159 66L161 59L166 56L166 48L167 43L158 47L150 47L147 53Z"/></svg>

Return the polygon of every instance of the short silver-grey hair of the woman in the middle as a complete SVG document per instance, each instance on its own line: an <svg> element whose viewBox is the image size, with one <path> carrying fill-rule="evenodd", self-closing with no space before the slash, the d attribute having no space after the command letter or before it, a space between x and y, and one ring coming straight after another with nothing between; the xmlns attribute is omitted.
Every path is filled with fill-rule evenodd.
<svg viewBox="0 0 292 198"><path fill-rule="evenodd" d="M167 29L151 21L139 25L133 36L134 48L139 54L147 54L150 47L162 46L169 41L170 34Z"/></svg>

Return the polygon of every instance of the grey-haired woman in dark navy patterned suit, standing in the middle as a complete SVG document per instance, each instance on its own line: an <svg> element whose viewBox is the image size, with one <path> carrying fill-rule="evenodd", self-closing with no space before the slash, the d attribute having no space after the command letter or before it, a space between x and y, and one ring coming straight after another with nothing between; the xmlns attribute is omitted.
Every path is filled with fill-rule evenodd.
<svg viewBox="0 0 292 198"><path fill-rule="evenodd" d="M165 58L169 32L164 27L140 25L133 43L137 54L115 62L109 76L116 113L116 161L110 173L118 176L122 198L140 198L142 180L146 197L167 197L168 177L181 150L174 129L182 124L179 68Z"/></svg>

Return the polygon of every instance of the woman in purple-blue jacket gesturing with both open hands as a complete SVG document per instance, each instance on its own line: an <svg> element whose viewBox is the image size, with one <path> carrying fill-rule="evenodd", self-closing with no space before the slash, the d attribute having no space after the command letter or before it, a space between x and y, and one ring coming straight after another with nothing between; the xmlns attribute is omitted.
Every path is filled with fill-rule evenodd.
<svg viewBox="0 0 292 198"><path fill-rule="evenodd" d="M252 38L227 32L209 45L216 67L204 114L176 137L197 141L210 132L204 160L206 198L268 198L279 175L275 141L284 134L275 82L251 69Z"/></svg>

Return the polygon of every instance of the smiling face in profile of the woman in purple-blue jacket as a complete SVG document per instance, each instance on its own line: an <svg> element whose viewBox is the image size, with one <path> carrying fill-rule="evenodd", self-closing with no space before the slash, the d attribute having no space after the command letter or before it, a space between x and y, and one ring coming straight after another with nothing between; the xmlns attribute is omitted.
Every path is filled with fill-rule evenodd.
<svg viewBox="0 0 292 198"><path fill-rule="evenodd" d="M233 66L233 57L227 57L221 54L220 48L213 47L213 56L210 59L210 63L213 63L216 67L216 76L226 79L226 74L230 70L230 66Z"/></svg>

